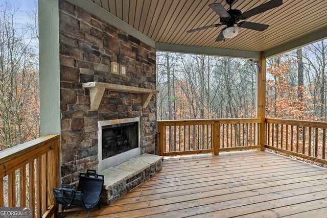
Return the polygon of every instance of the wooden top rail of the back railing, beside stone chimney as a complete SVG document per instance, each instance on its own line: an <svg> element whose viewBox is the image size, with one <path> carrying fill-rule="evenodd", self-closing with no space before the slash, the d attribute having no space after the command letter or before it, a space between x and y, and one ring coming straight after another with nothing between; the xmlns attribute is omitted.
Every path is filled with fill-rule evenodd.
<svg viewBox="0 0 327 218"><path fill-rule="evenodd" d="M179 119L179 120L158 120L158 123L211 123L220 122L221 124L243 124L243 123L261 123L260 118L230 118L230 119Z"/></svg>

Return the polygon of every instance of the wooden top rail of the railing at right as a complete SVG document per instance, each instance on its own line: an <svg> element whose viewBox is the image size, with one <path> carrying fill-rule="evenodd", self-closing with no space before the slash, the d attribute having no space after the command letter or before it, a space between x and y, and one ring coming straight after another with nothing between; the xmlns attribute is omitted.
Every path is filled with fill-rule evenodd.
<svg viewBox="0 0 327 218"><path fill-rule="evenodd" d="M327 122L310 121L310 120L266 118L266 123L327 129Z"/></svg>

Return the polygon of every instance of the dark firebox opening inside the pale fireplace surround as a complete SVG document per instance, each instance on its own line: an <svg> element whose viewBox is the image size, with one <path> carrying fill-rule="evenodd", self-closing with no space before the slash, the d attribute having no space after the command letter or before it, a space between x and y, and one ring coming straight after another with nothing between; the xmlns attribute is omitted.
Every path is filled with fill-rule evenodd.
<svg viewBox="0 0 327 218"><path fill-rule="evenodd" d="M138 148L138 122L102 127L102 160Z"/></svg>

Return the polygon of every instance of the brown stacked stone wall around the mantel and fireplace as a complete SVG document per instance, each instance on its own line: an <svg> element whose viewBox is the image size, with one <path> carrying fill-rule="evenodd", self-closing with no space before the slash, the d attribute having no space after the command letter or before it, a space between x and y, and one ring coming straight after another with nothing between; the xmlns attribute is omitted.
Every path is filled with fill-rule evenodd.
<svg viewBox="0 0 327 218"><path fill-rule="evenodd" d="M155 96L143 109L141 94L106 90L92 111L82 83L156 89L155 49L64 0L59 32L62 183L75 183L80 172L98 168L98 120L141 116L142 154L154 154ZM111 74L111 61L126 65L126 76Z"/></svg>

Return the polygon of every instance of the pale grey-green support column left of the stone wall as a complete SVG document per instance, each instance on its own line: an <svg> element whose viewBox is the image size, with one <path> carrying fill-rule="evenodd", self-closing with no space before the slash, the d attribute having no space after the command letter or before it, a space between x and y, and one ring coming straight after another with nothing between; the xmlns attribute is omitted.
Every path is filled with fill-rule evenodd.
<svg viewBox="0 0 327 218"><path fill-rule="evenodd" d="M38 0L40 134L60 134L59 1Z"/></svg>

